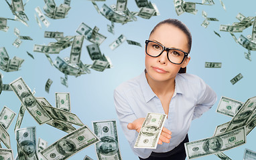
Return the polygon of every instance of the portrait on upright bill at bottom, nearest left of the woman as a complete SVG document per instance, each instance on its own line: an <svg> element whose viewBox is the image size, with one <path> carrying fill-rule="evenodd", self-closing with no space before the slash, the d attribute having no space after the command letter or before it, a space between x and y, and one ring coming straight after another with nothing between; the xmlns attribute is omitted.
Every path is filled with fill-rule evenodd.
<svg viewBox="0 0 256 160"><path fill-rule="evenodd" d="M111 136L101 137L101 141L96 144L96 147L103 155L115 155L119 150L117 141Z"/></svg>

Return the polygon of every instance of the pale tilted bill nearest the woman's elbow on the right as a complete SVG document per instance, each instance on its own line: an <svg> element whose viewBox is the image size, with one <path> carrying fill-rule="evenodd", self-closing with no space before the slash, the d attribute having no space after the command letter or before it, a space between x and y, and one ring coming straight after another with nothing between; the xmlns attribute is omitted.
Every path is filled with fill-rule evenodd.
<svg viewBox="0 0 256 160"><path fill-rule="evenodd" d="M237 111L239 111L242 105L243 102L241 101L222 96L220 98L220 102L218 103L216 112L223 115L228 115L230 117L234 117L234 115L237 113Z"/></svg>

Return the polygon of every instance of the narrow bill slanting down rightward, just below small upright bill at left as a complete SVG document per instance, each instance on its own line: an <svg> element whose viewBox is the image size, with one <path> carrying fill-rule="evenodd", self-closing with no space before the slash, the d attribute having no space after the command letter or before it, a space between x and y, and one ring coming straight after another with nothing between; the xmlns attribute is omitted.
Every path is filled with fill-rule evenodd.
<svg viewBox="0 0 256 160"><path fill-rule="evenodd" d="M82 121L80 121L80 119L74 114L74 113L70 113L68 111L64 111L62 109L58 109L55 107L51 107L51 106L44 106L44 109L46 109L46 111L51 115L51 117L54 120L58 120L58 121L62 121L64 123L72 123L74 125L79 125L79 126L83 126L84 124L82 123Z"/></svg>

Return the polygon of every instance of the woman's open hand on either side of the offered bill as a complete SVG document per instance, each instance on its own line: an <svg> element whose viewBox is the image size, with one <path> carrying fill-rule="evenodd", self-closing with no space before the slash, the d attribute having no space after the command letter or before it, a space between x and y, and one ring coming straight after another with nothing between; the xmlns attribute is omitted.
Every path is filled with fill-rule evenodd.
<svg viewBox="0 0 256 160"><path fill-rule="evenodd" d="M129 123L127 125L127 128L130 130L136 130L139 133L144 120L145 120L145 118L135 119L135 121L133 121L132 123ZM163 142L170 143L170 139L172 137L171 135L172 135L172 132L169 129L167 129L166 127L163 127L162 133L159 137L158 144L162 145Z"/></svg>

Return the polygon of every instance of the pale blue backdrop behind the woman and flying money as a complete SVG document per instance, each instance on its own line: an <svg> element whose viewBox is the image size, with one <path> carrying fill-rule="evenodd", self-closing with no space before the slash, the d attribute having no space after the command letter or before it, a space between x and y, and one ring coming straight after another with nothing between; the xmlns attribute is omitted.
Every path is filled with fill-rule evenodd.
<svg viewBox="0 0 256 160"><path fill-rule="evenodd" d="M56 1L56 6L59 6L62 2L63 1ZM119 145L123 159L138 159L131 151L127 139L125 139L125 135L119 125L113 102L113 90L120 83L139 75L143 71L145 68L144 47L128 45L127 42L124 42L117 47L117 49L112 51L109 48L109 44L115 41L119 35L123 34L127 39L137 41L144 46L145 39L148 39L151 29L153 29L159 21L168 18L180 19L180 21L188 26L192 33L192 51L190 54L192 58L188 64L187 72L198 75L204 79L204 81L210 85L218 95L218 100L212 109L192 122L189 131L190 141L211 137L217 125L231 120L231 117L216 113L216 107L222 95L243 102L250 97L255 96L255 51L251 52L252 61L245 59L244 52L247 52L247 49L235 43L229 33L219 31L219 27L220 24L231 25L233 22L239 22L239 20L235 18L239 12L245 15L245 17L255 16L256 2L253 0L224 0L223 3L227 9L227 11L225 11L220 5L220 1L216 0L214 1L215 5L212 6L196 5L196 9L198 9L196 15L183 13L180 16L175 12L173 1L152 0L151 2L157 5L160 12L159 16L151 17L151 19L137 17L137 21L129 22L125 25L115 23L115 35L113 35L107 31L107 24L111 25L111 22L101 14L97 13L92 3L86 0L72 0L70 5L71 9L65 19L50 19L46 17L46 19L50 21L50 26L46 28L41 22L42 29L40 29L34 14L36 14L35 8L37 6L40 6L43 11L44 1L30 0L27 5L25 5L25 13L29 18L29 27L26 27L18 21L8 20L7 26L9 26L9 31L7 31L7 33L0 31L0 47L5 47L11 59L14 56L25 59L21 65L21 70L9 73L1 71L3 75L3 83L11 83L11 81L14 81L18 77L23 77L23 80L31 90L36 88L36 97L46 97L53 106L55 106L55 92L69 92L72 113L78 115L82 122L88 125L90 129L92 129L92 121L116 119ZM101 9L104 3L112 5L116 4L116 1L96 3ZM130 11L139 11L135 1L128 1L127 7ZM203 10L208 13L208 17L216 17L219 21L210 21L210 24L206 29L202 27L201 23L204 21L204 17L202 17ZM0 16L13 18L5 1L0 2ZM113 68L106 69L103 72L91 69L90 74L82 75L80 77L68 76L68 88L66 88L60 83L60 77L64 77L64 74L50 65L44 53L34 53L33 47L34 44L47 45L51 41L55 42L54 39L44 38L44 31L61 31L64 32L64 36L78 35L76 29L78 29L82 22L86 23L86 25L91 28L96 25L100 29L99 33L107 37L107 39L100 45L100 48L102 53L111 58ZM20 47L14 47L12 43L17 38L13 33L14 27L19 29L20 35L30 36L34 40L21 40L23 42ZM221 37L215 35L213 31L220 33ZM245 29L242 34L246 36L251 34L251 31L252 27L249 27ZM235 33L235 35L238 38L241 33ZM170 38L175 39L175 37ZM86 45L90 44L89 41L84 40L84 45L82 47L81 60L86 64L92 64L86 50ZM26 51L32 53L35 59L31 59ZM53 61L57 56L60 56L61 58L69 57L70 47L61 51L59 55L50 56ZM221 62L222 67L219 69L205 68L204 63L206 61ZM232 85L230 80L239 73L243 75L243 79L235 85ZM52 86L50 87L50 93L46 93L44 90L48 78L53 81ZM6 105L15 111L15 113L19 112L21 103L12 91L3 91L0 95L0 102L1 108ZM11 148L13 149L14 157L17 155L15 134L13 131L16 119L17 115L8 130L11 137ZM49 125L38 125L26 111L21 128L30 126L36 126L37 141L40 137L48 141L48 145L51 145L66 135L64 131L60 131ZM255 130L249 133L245 145L225 151L225 153L229 155L231 159L243 159L245 148L256 151L254 143ZM97 159L94 146L83 149L76 155L70 157L70 159L83 159L85 155L92 157L92 159ZM208 155L198 159L218 159L218 157L215 155Z"/></svg>

